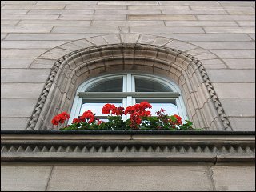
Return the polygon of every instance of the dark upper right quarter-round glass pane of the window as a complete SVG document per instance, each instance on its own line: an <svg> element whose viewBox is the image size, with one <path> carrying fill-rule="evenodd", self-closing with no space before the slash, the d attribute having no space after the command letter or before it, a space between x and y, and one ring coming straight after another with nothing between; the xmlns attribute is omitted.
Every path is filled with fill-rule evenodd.
<svg viewBox="0 0 256 192"><path fill-rule="evenodd" d="M169 86L151 78L135 77L136 92L172 92Z"/></svg>

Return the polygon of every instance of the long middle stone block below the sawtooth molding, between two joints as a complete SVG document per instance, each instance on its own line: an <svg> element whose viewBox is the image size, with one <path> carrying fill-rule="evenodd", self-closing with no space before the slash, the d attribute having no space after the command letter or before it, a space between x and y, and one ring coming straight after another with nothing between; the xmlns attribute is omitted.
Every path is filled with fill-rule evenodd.
<svg viewBox="0 0 256 192"><path fill-rule="evenodd" d="M213 186L206 166L54 166L48 190L85 189L213 190Z"/></svg>

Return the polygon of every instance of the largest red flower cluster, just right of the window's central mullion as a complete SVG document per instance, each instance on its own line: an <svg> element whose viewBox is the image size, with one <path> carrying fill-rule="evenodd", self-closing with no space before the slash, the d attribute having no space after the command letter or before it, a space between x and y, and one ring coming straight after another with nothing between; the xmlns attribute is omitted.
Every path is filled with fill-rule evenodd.
<svg viewBox="0 0 256 192"><path fill-rule="evenodd" d="M142 117L151 116L150 111L146 110L146 108L152 108L150 103L141 102L134 106L126 107L124 114L130 114L130 127L138 128L138 125L142 123Z"/></svg>

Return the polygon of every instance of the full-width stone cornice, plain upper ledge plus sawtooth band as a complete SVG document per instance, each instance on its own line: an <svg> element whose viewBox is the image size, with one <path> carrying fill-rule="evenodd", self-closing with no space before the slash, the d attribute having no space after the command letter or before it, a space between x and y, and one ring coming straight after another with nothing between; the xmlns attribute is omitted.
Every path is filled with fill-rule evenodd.
<svg viewBox="0 0 256 192"><path fill-rule="evenodd" d="M2 134L2 162L254 162L254 134Z"/></svg>

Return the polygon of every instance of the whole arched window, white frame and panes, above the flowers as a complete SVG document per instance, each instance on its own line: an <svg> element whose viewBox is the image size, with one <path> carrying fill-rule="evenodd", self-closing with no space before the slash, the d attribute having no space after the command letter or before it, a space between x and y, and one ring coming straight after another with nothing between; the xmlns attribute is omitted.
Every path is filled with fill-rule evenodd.
<svg viewBox="0 0 256 192"><path fill-rule="evenodd" d="M102 106L132 106L147 101L152 105L151 114L163 108L166 114L178 114L187 119L178 86L169 79L146 74L111 74L92 78L78 87L70 113L70 121L86 110L92 110L97 118L106 119ZM127 118L127 117L124 117Z"/></svg>

